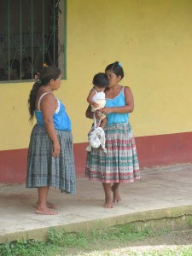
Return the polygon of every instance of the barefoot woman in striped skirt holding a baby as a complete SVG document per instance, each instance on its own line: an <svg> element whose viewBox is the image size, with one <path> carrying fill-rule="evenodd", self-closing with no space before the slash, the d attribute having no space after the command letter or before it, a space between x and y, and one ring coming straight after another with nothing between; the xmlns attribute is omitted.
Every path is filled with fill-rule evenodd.
<svg viewBox="0 0 192 256"><path fill-rule="evenodd" d="M140 178L135 140L129 123L130 113L134 109L134 100L128 86L119 85L124 77L119 61L105 69L109 84L105 90L106 105L102 112L108 122L105 128L106 148L92 148L87 153L85 176L92 181L102 182L105 193L103 207L113 208L113 203L121 201L119 183L133 182ZM86 117L92 118L90 106Z"/></svg>

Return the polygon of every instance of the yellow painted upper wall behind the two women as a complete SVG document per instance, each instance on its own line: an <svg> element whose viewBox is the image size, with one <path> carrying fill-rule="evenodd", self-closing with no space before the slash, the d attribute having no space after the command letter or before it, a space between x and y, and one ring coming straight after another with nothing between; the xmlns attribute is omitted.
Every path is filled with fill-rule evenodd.
<svg viewBox="0 0 192 256"><path fill-rule="evenodd" d="M86 96L95 73L113 61L135 97L136 137L192 131L192 1L67 1L67 80L55 94L84 143ZM0 84L0 150L27 148L32 83Z"/></svg>

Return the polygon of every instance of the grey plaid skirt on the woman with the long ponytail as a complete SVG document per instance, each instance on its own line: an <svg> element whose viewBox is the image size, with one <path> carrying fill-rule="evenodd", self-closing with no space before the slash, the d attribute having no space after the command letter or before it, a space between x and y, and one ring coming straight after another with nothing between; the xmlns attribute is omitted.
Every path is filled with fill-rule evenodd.
<svg viewBox="0 0 192 256"><path fill-rule="evenodd" d="M61 146L53 157L53 143L44 125L34 125L27 155L26 188L52 186L75 194L75 167L71 131L56 130Z"/></svg>

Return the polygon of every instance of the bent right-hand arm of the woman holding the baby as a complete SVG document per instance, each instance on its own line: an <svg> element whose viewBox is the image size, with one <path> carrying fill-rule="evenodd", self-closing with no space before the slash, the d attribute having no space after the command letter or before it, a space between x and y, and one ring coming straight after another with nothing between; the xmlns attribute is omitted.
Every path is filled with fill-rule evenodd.
<svg viewBox="0 0 192 256"><path fill-rule="evenodd" d="M127 86L124 88L125 93L125 106L123 107L113 107L113 108L102 108L102 112L108 113L131 113L134 110L134 99L131 89Z"/></svg>

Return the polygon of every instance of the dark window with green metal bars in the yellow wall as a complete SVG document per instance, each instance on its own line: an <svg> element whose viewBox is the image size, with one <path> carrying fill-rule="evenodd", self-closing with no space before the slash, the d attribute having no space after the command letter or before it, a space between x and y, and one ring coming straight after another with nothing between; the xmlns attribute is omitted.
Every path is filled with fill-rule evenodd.
<svg viewBox="0 0 192 256"><path fill-rule="evenodd" d="M1 0L0 80L34 79L44 63L63 73L65 20L66 0Z"/></svg>

